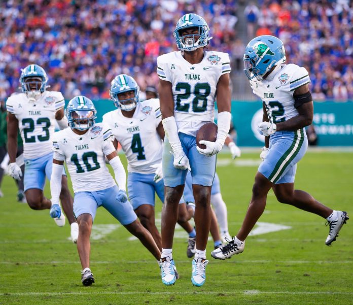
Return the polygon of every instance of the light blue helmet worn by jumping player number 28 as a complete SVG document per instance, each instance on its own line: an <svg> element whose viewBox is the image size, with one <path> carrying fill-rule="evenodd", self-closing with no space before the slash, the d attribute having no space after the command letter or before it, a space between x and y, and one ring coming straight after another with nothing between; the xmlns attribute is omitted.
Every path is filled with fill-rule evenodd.
<svg viewBox="0 0 353 305"><path fill-rule="evenodd" d="M198 34L181 36L181 30L188 27L197 27ZM178 49L185 51L194 51L197 48L207 46L208 41L212 39L212 37L208 37L208 34L209 27L206 21L196 14L184 15L179 19L174 30L174 37L177 40Z"/></svg>

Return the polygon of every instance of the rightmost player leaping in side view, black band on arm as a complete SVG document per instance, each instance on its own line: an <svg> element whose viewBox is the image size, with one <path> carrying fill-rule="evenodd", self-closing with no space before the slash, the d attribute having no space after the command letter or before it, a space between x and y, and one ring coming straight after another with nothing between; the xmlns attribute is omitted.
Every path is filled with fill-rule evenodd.
<svg viewBox="0 0 353 305"><path fill-rule="evenodd" d="M285 64L283 42L264 35L254 38L244 54L245 74L253 92L263 100L263 122L258 130L265 135L265 148L255 176L253 196L245 219L235 238L211 255L226 259L244 250L244 242L262 215L268 191L279 202L325 218L330 225L326 245L331 245L348 219L346 212L332 210L310 194L294 189L297 163L304 157L308 141L305 127L312 123L313 103L304 67Z"/></svg>

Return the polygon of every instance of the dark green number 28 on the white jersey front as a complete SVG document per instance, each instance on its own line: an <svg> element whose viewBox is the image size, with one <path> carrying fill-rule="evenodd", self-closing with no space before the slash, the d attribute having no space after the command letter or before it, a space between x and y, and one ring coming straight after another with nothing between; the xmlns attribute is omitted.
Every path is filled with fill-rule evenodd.
<svg viewBox="0 0 353 305"><path fill-rule="evenodd" d="M191 85L189 83L178 83L175 86L175 91L184 93L177 94L177 106L175 110L189 112L190 111L190 103L184 103L182 105L183 99L188 99L192 93ZM211 87L208 83L197 83L194 87L193 95L195 95L192 100L192 111L193 112L204 112L207 109L207 97L211 92Z"/></svg>

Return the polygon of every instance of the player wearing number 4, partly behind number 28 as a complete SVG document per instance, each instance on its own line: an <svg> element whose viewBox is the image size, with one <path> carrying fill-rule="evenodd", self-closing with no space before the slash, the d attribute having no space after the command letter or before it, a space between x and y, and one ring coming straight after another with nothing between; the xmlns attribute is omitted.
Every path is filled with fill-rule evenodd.
<svg viewBox="0 0 353 305"><path fill-rule="evenodd" d="M114 146L118 143L128 161L127 189L132 207L141 223L152 234L159 249L161 236L155 225L155 193L164 201L162 173L162 141L164 129L161 122L159 99L139 102L139 86L126 74L118 75L111 83L110 95L117 110L103 115L114 134ZM188 223L193 216L192 206L181 200L180 225L192 236L195 230ZM190 235L191 234L191 235ZM193 236L194 237L194 236Z"/></svg>

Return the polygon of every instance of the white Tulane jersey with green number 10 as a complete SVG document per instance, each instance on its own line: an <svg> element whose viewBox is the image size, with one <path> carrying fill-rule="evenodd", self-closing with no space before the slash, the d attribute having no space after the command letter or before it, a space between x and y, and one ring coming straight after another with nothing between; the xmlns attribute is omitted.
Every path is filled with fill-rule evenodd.
<svg viewBox="0 0 353 305"><path fill-rule="evenodd" d="M85 134L65 128L55 132L52 140L54 156L65 160L75 193L104 190L116 185L105 166L104 156L115 151L114 136L108 126L97 123Z"/></svg>

